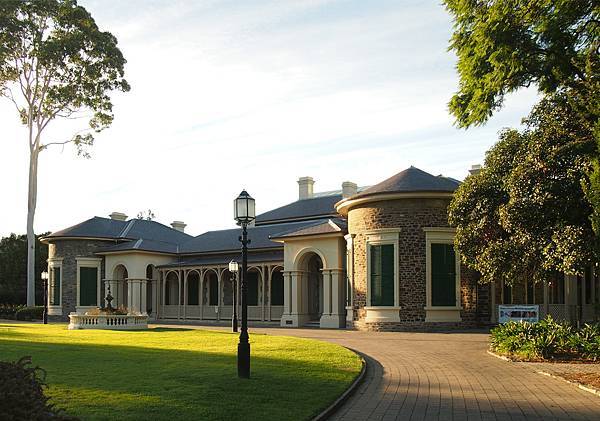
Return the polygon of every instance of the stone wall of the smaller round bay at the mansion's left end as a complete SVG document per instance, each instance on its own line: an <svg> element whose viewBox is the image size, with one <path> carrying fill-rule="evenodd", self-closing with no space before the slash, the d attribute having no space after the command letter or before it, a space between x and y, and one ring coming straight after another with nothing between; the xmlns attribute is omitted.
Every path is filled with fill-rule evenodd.
<svg viewBox="0 0 600 421"><path fill-rule="evenodd" d="M62 258L61 299L62 316L50 316L50 320L68 321L69 313L77 306L77 257L100 256L94 253L101 247L112 244L101 240L56 240L48 245L48 258ZM100 279L104 279L104 259L100 269ZM104 291L104 288L101 288Z"/></svg>

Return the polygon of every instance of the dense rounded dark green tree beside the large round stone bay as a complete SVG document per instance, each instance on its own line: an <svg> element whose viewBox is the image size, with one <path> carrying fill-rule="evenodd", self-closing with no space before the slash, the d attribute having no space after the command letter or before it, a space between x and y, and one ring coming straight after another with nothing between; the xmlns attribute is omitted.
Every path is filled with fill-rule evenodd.
<svg viewBox="0 0 600 421"><path fill-rule="evenodd" d="M525 130L505 130L484 168L467 177L450 205L463 262L482 282L581 274L596 236L585 197L595 152L590 123L568 96L538 104Z"/></svg>

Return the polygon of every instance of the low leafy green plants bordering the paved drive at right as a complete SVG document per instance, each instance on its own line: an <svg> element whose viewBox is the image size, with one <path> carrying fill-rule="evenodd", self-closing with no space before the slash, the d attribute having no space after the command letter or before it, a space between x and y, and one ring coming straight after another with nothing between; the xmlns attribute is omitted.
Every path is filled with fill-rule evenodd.
<svg viewBox="0 0 600 421"><path fill-rule="evenodd" d="M509 322L492 329L492 351L512 357L537 359L600 359L600 325L574 329L548 316L538 323Z"/></svg>

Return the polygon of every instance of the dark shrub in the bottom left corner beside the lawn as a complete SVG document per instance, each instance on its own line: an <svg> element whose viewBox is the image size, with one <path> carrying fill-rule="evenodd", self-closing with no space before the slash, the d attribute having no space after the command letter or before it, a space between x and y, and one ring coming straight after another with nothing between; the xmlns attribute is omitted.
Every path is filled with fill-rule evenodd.
<svg viewBox="0 0 600 421"><path fill-rule="evenodd" d="M30 365L31 357L0 361L0 419L76 420L49 403L44 395L46 372Z"/></svg>

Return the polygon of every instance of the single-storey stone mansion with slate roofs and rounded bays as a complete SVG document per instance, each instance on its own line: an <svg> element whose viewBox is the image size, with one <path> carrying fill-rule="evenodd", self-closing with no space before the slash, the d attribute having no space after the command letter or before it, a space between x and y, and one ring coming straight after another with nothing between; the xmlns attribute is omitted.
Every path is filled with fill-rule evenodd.
<svg viewBox="0 0 600 421"><path fill-rule="evenodd" d="M477 171L473 169L472 171ZM460 263L448 205L460 182L410 167L379 184L315 193L248 228L248 318L284 327L368 330L467 328L497 322L497 305L540 304L559 319L594 317L594 271L520 288L478 284ZM113 212L54 232L49 245L49 314L66 320L105 304L153 320L230 320L241 229L185 232ZM588 273L589 272L589 273ZM239 300L237 300L239 303Z"/></svg>

